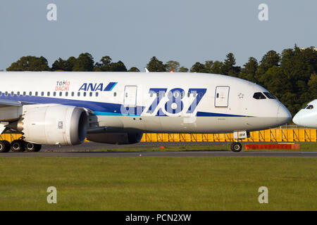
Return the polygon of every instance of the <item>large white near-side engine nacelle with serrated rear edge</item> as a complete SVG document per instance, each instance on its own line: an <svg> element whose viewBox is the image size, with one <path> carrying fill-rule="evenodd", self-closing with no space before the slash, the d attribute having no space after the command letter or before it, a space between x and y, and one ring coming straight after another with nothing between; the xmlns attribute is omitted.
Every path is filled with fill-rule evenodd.
<svg viewBox="0 0 317 225"><path fill-rule="evenodd" d="M25 141L61 146L82 143L87 127L86 111L68 105L25 105L18 122Z"/></svg>

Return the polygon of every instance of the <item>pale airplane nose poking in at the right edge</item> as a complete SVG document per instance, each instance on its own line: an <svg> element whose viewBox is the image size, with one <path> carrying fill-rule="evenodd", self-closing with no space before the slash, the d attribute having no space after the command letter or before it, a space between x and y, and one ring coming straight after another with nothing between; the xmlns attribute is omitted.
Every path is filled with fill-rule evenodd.
<svg viewBox="0 0 317 225"><path fill-rule="evenodd" d="M304 127L317 128L317 99L311 101L294 115L293 122Z"/></svg>

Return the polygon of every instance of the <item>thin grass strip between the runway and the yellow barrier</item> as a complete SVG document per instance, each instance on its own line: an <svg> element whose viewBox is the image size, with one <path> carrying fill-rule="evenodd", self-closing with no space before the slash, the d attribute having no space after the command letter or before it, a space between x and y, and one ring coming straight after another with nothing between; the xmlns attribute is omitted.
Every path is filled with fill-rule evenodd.
<svg viewBox="0 0 317 225"><path fill-rule="evenodd" d="M161 143L161 146L164 148L161 148L161 146L157 147L143 147L143 148L101 148L93 151L97 152L138 152L138 151L193 151L193 150L207 150L207 151L231 151L230 150L230 144L231 143L226 143L226 144L217 144L217 145L206 145L202 146L201 143L199 145L187 145L185 146L164 146L164 142ZM300 149L299 150L290 150L290 149L261 149L261 150L245 150L244 145L245 143L242 143L243 151L252 151L252 152L259 152L259 151L317 151L317 143L316 142L304 142L304 143L299 143L300 144Z"/></svg>

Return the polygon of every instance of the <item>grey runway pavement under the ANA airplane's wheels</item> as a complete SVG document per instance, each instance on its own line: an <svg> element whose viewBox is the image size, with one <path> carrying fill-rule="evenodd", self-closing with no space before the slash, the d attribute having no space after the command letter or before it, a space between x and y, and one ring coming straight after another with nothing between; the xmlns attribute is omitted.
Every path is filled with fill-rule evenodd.
<svg viewBox="0 0 317 225"><path fill-rule="evenodd" d="M300 152L300 151L279 151L279 152L249 152L241 151L233 153L232 151L127 151L125 148L150 148L157 146L216 146L227 143L214 142L143 142L133 145L113 146L102 143L83 143L80 146L43 146L39 153L0 153L0 157L293 157L293 158L317 158L317 152ZM230 144L230 143L228 143ZM120 152L99 152L93 151L101 148L120 148Z"/></svg>

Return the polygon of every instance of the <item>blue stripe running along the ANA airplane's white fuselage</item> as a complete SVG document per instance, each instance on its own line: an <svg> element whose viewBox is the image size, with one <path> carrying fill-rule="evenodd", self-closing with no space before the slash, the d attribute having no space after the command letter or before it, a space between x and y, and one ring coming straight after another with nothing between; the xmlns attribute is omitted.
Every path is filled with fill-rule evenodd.
<svg viewBox="0 0 317 225"><path fill-rule="evenodd" d="M113 85L115 86L115 84ZM144 106L137 107L123 107L121 104L116 103L101 103L97 101L81 101L73 100L66 98L51 98L51 97L42 97L42 96L0 96L0 99L7 99L12 101L20 101L22 103L33 103L33 104L61 104L61 105L73 105L82 108L88 108L89 110L94 111L95 115L114 115L114 116L123 116L123 115L134 115L140 116L144 111ZM122 109L126 112L122 112ZM156 116L166 116L160 115L159 113ZM197 112L197 117L250 117L247 115L232 115L224 113L206 113L206 112Z"/></svg>

